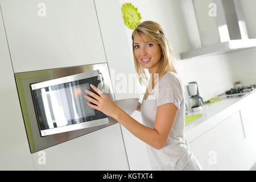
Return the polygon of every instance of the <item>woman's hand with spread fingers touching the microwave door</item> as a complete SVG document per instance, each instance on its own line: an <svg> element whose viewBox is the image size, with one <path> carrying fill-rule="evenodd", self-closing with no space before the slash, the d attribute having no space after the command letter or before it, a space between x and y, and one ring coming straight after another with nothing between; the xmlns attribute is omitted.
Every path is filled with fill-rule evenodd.
<svg viewBox="0 0 256 182"><path fill-rule="evenodd" d="M96 86L90 84L90 87L99 94L99 96L90 90L85 90L86 93L88 93L90 96L85 95L84 97L92 102L93 104L90 104L87 102L87 104L92 107L93 109L97 109L101 111L102 113L109 115L112 118L115 118L115 114L117 114L118 110L120 109L105 93L103 93L100 89L98 89ZM95 99L94 99L95 98Z"/></svg>

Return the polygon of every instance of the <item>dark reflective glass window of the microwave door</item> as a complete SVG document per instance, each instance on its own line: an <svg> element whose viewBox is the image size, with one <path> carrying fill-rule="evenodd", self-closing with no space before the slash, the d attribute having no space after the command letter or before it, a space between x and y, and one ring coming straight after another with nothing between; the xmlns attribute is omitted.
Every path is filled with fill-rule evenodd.
<svg viewBox="0 0 256 182"><path fill-rule="evenodd" d="M41 130L107 118L101 111L87 105L86 89L98 86L98 77L67 82L32 90ZM96 93L96 92L94 92ZM97 94L97 93L96 93Z"/></svg>

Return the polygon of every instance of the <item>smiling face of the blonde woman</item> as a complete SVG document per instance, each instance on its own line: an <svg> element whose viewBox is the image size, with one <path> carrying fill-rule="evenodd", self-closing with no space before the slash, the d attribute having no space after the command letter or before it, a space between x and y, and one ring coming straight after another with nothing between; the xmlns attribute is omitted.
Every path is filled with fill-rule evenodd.
<svg viewBox="0 0 256 182"><path fill-rule="evenodd" d="M143 68L147 68L148 72L156 73L156 69L159 66L162 52L159 44L147 39L146 36L139 34L134 37L134 54L139 64Z"/></svg>

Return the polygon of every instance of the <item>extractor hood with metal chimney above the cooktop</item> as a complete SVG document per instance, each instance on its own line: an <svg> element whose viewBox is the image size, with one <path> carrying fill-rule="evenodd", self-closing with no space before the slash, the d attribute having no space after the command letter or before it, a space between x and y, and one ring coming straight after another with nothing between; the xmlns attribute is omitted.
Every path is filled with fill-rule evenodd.
<svg viewBox="0 0 256 182"><path fill-rule="evenodd" d="M180 59L256 47L256 39L247 34L240 0L186 0L182 7L193 49L180 53Z"/></svg>

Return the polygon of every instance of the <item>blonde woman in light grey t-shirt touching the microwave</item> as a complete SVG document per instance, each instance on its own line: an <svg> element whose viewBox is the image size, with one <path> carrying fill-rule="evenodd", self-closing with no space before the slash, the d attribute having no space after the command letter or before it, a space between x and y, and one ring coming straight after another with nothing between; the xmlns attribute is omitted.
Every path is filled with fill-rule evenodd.
<svg viewBox="0 0 256 182"><path fill-rule="evenodd" d="M135 137L147 143L148 156L154 170L201 170L185 138L185 104L183 86L172 65L171 49L158 23L146 21L132 35L135 70L139 75L148 69L150 80L141 111L144 125L120 109L108 96L90 85L98 94L86 90L93 104L88 105L113 117ZM142 83L142 78L139 78ZM151 97L150 97L151 96Z"/></svg>

